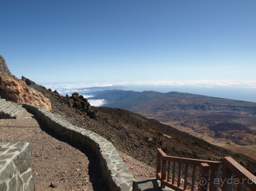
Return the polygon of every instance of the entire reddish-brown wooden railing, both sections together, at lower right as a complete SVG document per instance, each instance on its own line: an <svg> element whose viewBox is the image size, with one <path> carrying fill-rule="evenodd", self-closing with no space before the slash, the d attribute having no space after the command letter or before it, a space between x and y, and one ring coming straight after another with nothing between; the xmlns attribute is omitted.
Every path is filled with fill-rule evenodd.
<svg viewBox="0 0 256 191"><path fill-rule="evenodd" d="M173 163L173 172L171 174L172 180L170 182L170 162ZM167 167L168 164L168 167ZM178 164L178 181L175 184L175 169L176 164ZM181 165L185 164L184 172L184 185L181 187ZM195 188L195 177L196 177L196 167L200 167L199 173L199 191L207 191L208 187L208 176L209 169L211 169L210 174L210 185L209 191L218 191L219 184L222 183L222 191L231 191L232 184L237 184L237 190L242 191L242 185L245 184L253 191L256 191L256 176L246 170L238 162L236 162L231 157L223 158L223 174L222 181L220 181L220 167L221 162L217 161L208 161L208 160L198 160L192 158L181 158L181 157L171 157L167 156L161 149L157 149L157 158L156 158L156 179L161 181L161 188L165 186L172 188L176 191L189 191L187 190L187 177L188 177L188 165L193 166L192 172L192 183L191 191L194 191ZM166 177L167 170L167 177ZM236 175L237 180L233 179L233 174ZM203 183L200 181L204 181Z"/></svg>

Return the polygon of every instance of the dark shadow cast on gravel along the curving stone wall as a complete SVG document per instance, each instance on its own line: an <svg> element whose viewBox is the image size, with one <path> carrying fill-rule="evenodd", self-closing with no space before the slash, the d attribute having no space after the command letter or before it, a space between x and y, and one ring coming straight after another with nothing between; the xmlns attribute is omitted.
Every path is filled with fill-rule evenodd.
<svg viewBox="0 0 256 191"><path fill-rule="evenodd" d="M47 134L49 134L50 136L52 136L53 138L55 138L57 140L65 142L65 143L69 144L70 146L72 146L76 149L79 149L82 153L84 153L89 160L88 175L90 176L89 181L92 183L93 190L108 191L108 187L107 187L106 183L103 181L103 178L101 175L99 159L96 157L96 155L92 151L90 151L89 149L87 149L81 145L75 144L69 140L63 139L60 135L58 135L55 132L53 132L52 130L50 130L47 127L46 123L41 121L41 119L39 119L36 116L36 114L31 112L30 110L27 110L27 111L29 113L33 114L32 118L34 118L38 122L40 128L44 132L46 132Z"/></svg>

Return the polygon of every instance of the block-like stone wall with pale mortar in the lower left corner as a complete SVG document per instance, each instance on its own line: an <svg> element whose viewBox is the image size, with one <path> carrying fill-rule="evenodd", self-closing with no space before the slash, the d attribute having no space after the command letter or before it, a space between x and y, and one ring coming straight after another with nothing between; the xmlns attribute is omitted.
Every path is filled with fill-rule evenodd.
<svg viewBox="0 0 256 191"><path fill-rule="evenodd" d="M28 142L0 143L0 190L34 191Z"/></svg>

